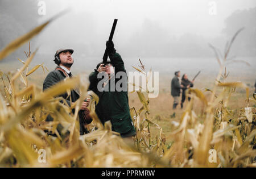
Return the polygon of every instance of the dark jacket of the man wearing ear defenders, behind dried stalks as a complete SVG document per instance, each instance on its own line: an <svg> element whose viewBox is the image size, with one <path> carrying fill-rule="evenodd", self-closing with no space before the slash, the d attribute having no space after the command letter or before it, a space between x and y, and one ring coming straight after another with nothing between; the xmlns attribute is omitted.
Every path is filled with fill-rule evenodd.
<svg viewBox="0 0 256 179"><path fill-rule="evenodd" d="M57 66L56 68L60 68L60 66ZM63 72L61 72L60 70L55 69L52 72L49 72L46 79L44 80L43 91L46 90L47 88L50 88L51 86L55 85L57 82L64 80L65 78L66 78L65 74ZM59 97L63 97L65 99L65 101L68 103L68 105L71 106L71 101L68 96L68 93L61 94L61 95L59 95ZM80 97L80 94L78 92L76 92L75 90L71 90L72 102L75 102L77 99L79 99L79 97ZM79 119L81 119L81 113L79 113ZM53 119L50 115L48 115L46 120L52 121ZM81 120L79 120L79 122L80 122L80 134L82 135L82 134L88 133L88 131L84 127L84 124L82 124ZM58 126L59 132L60 132L61 128L63 128L63 127L61 127L59 125Z"/></svg>

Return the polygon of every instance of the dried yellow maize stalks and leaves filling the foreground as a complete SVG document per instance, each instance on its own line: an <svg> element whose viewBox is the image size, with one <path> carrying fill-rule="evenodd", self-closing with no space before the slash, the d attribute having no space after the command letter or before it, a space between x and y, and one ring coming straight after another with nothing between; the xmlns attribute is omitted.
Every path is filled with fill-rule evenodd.
<svg viewBox="0 0 256 179"><path fill-rule="evenodd" d="M49 20L51 21L51 20ZM48 21L48 22L49 22ZM32 36L38 34L47 24L16 39L0 53L0 59L7 56ZM237 34L236 34L237 35ZM233 39L232 39L233 43ZM229 45L231 46L231 44ZM229 48L225 54L228 55ZM217 53L217 51L216 51ZM32 75L40 66L36 65L28 72L28 64L35 52L26 53L27 61L13 76L1 72L2 79L7 77L9 88L4 80L5 95L0 95L0 166L3 167L254 167L255 166L255 99L250 99L247 87L241 82L220 81L223 66L217 77L217 83L207 99L203 91L189 89L191 101L181 116L180 122L171 135L165 137L162 127L150 117L149 91L137 91L141 109L131 107L130 113L137 135L133 142L125 141L111 129L111 123L103 126L94 109L99 98L87 91L89 80L84 75L68 78L46 91L40 91L35 85L29 85L27 76ZM220 59L218 59L220 65ZM27 68L27 72L24 70ZM146 75L144 65L135 68ZM48 69L47 69L48 70ZM26 75L23 75L26 74ZM15 83L23 80L23 88ZM225 76L227 77L227 76ZM222 87L221 94L217 88ZM57 97L68 90L79 88L81 98L71 107L63 98ZM245 88L247 105L237 114L228 108L234 88ZM231 90L232 89L232 90ZM80 136L78 109L82 100L90 96L92 124L86 126L89 134ZM195 100L200 99L203 111L196 114L193 110ZM61 101L64 101L63 103ZM254 105L255 106L255 105ZM75 113L72 110L75 109ZM142 113L144 111L144 113ZM46 122L51 114L53 121ZM199 115L203 122L199 120ZM63 129L59 133L58 125ZM151 128L159 132L151 136ZM56 136L47 135L48 132ZM172 144L166 144L166 140ZM167 146L168 145L168 146ZM216 161L214 161L214 156ZM213 160L213 162L212 162Z"/></svg>

